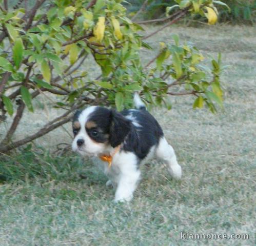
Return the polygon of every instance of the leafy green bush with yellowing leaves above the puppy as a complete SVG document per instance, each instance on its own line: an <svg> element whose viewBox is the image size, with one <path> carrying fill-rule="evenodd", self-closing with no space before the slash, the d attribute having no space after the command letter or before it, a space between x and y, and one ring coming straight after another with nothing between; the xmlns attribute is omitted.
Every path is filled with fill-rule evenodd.
<svg viewBox="0 0 256 246"><path fill-rule="evenodd" d="M138 32L143 28L126 16L120 0L37 0L25 9L8 9L5 1L0 8L1 122L7 114L14 117L0 152L47 134L85 105L130 108L134 91L146 104L168 108L168 95L193 95L194 108L205 105L215 112L215 104L222 106L220 56L212 59L212 68L205 68L198 49L173 35L173 43L161 43L159 54L141 64L140 49L152 49L145 40L186 15L198 12L207 16L209 24L215 23L211 0L203 5L176 2L178 11L156 20L164 26L141 36ZM101 69L94 78L85 65L89 57ZM41 94L52 95L51 106L62 109L60 115L37 132L12 141L25 108L33 113L34 99Z"/></svg>

